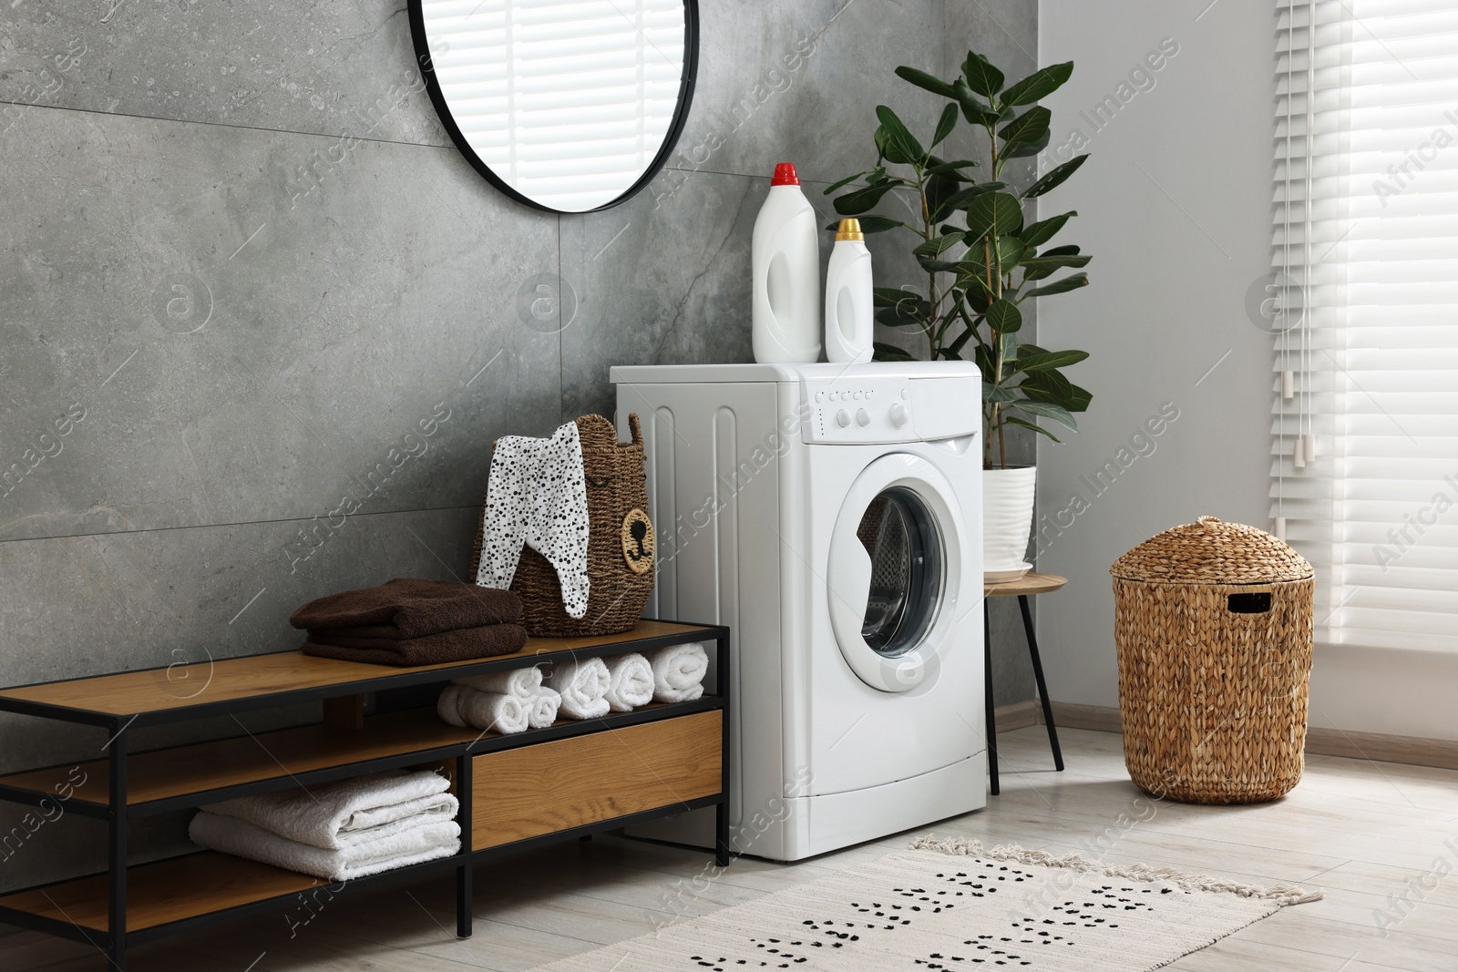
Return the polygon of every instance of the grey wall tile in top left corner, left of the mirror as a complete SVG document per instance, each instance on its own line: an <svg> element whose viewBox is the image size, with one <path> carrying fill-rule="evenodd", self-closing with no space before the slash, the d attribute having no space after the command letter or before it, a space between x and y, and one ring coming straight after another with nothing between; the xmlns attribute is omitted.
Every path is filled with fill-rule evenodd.
<svg viewBox="0 0 1458 972"><path fill-rule="evenodd" d="M0 101L449 144L421 89L402 3L38 7L3 15Z"/></svg>

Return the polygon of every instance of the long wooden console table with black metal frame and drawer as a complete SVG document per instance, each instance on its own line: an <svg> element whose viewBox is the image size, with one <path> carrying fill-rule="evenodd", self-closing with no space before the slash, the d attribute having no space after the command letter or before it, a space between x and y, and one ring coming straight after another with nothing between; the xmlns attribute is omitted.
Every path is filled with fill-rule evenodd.
<svg viewBox="0 0 1458 972"><path fill-rule="evenodd" d="M456 729L434 711L451 679L694 641L714 641L717 665L716 694L693 702L558 720L509 736ZM0 777L0 799L44 807L70 788L67 812L106 820L109 841L106 871L6 893L0 921L96 944L121 972L128 946L289 908L313 889L338 892L330 882L216 851L128 867L127 823L401 767L448 772L461 801L461 851L347 883L372 887L455 870L461 937L471 934L471 866L515 851L713 806L723 866L728 688L728 628L642 621L623 634L532 638L515 654L451 665L397 669L286 651L3 689L0 711L99 727L106 758ZM376 694L369 717L366 692ZM315 699L324 702L319 724L128 752L128 736L141 726Z"/></svg>

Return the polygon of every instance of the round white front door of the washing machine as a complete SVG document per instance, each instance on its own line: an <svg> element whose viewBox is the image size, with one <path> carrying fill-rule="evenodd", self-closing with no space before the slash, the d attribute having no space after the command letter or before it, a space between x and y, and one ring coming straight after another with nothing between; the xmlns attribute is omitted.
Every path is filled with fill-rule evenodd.
<svg viewBox="0 0 1458 972"><path fill-rule="evenodd" d="M882 456L856 478L825 577L835 641L866 685L905 692L939 669L959 621L964 542L952 485L926 459Z"/></svg>

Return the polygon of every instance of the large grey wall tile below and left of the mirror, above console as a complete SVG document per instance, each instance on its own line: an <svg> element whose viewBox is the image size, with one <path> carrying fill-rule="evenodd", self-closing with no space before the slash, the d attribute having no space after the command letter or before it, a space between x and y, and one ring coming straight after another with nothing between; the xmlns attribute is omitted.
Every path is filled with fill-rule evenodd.
<svg viewBox="0 0 1458 972"><path fill-rule="evenodd" d="M25 469L0 538L312 516L360 488L369 512L458 506L491 439L555 420L557 338L513 309L555 267L555 219L453 149L346 143L296 198L290 169L338 140L25 121L0 171L20 254L0 268L0 447ZM376 493L379 463L398 472Z"/></svg>

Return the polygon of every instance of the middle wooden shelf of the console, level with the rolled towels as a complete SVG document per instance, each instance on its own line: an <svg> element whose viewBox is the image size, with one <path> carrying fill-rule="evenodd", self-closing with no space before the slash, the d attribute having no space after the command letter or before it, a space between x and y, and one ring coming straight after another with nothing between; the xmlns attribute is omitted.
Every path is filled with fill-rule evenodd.
<svg viewBox="0 0 1458 972"><path fill-rule="evenodd" d="M710 699L713 697L709 697ZM685 705L650 704L633 710L634 714L662 710L684 711ZM672 713L665 713L672 714ZM621 717L608 717L608 724ZM576 726L590 732L589 724L560 718L555 727ZM592 720L596 727L596 720ZM510 736L512 742L531 745L541 732L526 732ZM487 743L502 739L500 733L483 733L478 729L456 729L440 721L434 708L413 708L364 720L364 729L338 729L334 726L302 726L257 736L219 739L206 743L174 746L133 753L127 764L127 806L136 807L157 800L176 801L198 793L222 790L265 780L277 780L281 787L297 785L299 777L319 769L347 769L351 764L389 756L408 756L459 746L464 743ZM29 790L38 794L55 794L73 778L76 765L32 769L0 777L0 785ZM105 759L80 764L86 774L80 785L74 785L71 800L106 806L109 771Z"/></svg>

